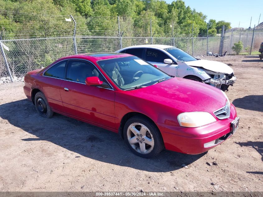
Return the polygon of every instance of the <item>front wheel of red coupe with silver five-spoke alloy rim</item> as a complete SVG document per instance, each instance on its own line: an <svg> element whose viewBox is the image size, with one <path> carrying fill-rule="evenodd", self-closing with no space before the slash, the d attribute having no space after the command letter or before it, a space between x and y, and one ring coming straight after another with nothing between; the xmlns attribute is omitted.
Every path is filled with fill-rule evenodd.
<svg viewBox="0 0 263 197"><path fill-rule="evenodd" d="M144 158L155 157L164 148L157 126L142 116L134 116L125 123L124 140L134 154Z"/></svg>

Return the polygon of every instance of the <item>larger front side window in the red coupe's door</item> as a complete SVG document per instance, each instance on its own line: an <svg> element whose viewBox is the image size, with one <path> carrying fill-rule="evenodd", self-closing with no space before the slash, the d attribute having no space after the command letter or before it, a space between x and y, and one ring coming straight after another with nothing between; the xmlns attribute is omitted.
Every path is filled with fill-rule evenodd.
<svg viewBox="0 0 263 197"><path fill-rule="evenodd" d="M70 60L68 62L67 80L85 83L87 77L99 77L101 81L104 81L92 64L81 60Z"/></svg>

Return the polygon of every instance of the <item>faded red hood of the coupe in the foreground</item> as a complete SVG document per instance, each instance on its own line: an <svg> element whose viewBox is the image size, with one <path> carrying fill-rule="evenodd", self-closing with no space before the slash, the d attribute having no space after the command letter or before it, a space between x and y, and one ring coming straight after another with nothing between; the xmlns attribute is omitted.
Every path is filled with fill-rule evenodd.
<svg viewBox="0 0 263 197"><path fill-rule="evenodd" d="M131 94L162 106L175 113L213 112L225 106L227 99L218 88L183 78L171 78L152 86L131 90ZM166 108L164 107L164 109Z"/></svg>

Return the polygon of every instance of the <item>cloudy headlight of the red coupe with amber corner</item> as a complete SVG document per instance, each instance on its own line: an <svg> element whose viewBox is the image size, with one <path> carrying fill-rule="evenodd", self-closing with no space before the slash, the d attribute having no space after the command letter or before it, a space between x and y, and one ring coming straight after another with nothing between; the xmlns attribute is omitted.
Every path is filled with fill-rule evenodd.
<svg viewBox="0 0 263 197"><path fill-rule="evenodd" d="M200 127L216 121L208 112L184 112L177 119L182 127Z"/></svg>

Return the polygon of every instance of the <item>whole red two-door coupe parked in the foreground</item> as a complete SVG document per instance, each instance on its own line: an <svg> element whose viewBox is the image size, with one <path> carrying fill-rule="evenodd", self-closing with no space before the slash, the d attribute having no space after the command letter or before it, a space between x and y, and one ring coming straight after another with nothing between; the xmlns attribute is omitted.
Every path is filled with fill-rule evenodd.
<svg viewBox="0 0 263 197"><path fill-rule="evenodd" d="M239 117L226 94L163 73L136 56L92 53L63 57L25 76L38 114L53 112L119 133L132 152L206 152L234 134Z"/></svg>

